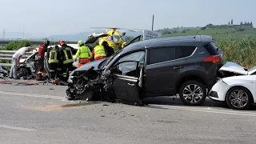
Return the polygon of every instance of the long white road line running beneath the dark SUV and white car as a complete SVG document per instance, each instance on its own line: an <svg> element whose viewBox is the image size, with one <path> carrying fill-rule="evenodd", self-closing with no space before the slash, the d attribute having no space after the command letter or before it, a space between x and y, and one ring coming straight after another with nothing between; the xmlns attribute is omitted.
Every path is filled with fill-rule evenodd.
<svg viewBox="0 0 256 144"><path fill-rule="evenodd" d="M217 109L207 109L206 107L193 108L187 106L162 106L162 105L149 105L146 107L158 106L160 108L168 109L168 110L189 110L189 111L198 111L198 112L206 112L206 113L216 113L216 114L234 114L234 115L243 115L243 116L253 116L256 117L256 113L250 112L239 112L239 110L217 110Z"/></svg>

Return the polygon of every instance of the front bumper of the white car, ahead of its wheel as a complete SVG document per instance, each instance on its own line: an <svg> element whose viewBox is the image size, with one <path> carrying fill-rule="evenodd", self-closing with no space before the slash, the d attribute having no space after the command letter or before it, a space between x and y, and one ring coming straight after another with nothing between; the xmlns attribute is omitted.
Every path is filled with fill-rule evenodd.
<svg viewBox="0 0 256 144"><path fill-rule="evenodd" d="M225 101L226 92L229 88L230 86L226 82L219 80L210 90L208 97L217 101Z"/></svg>

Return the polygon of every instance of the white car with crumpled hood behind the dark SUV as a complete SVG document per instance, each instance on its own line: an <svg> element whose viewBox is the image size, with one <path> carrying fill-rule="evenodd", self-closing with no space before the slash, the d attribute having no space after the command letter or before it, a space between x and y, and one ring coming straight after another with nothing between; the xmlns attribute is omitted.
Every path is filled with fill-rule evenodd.
<svg viewBox="0 0 256 144"><path fill-rule="evenodd" d="M209 98L226 102L234 110L246 110L256 102L256 66L248 70L234 62L226 62L219 71L228 75L218 79Z"/></svg>

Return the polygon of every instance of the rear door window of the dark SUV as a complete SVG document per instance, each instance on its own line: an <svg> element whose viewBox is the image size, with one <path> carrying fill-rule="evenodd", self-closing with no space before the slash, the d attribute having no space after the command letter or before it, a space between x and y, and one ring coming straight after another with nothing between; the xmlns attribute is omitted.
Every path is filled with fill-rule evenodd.
<svg viewBox="0 0 256 144"><path fill-rule="evenodd" d="M166 62L175 59L175 47L158 47L149 49L149 61L147 64Z"/></svg>

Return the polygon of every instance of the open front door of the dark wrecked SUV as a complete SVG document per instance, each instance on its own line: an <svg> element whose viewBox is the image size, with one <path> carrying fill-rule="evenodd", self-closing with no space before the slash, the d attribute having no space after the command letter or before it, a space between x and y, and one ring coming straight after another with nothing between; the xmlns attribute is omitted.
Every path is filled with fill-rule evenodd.
<svg viewBox="0 0 256 144"><path fill-rule="evenodd" d="M111 69L114 78L114 91L118 99L126 102L141 103L139 91L142 68L138 61L123 61Z"/></svg>

